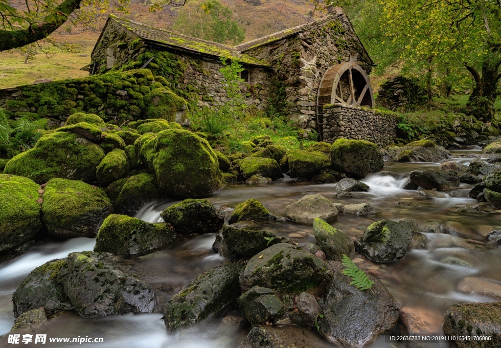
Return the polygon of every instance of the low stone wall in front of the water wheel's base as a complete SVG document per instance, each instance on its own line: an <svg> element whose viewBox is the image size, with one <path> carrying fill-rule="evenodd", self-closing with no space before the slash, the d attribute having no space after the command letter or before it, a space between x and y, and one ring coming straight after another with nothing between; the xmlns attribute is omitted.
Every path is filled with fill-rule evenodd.
<svg viewBox="0 0 501 348"><path fill-rule="evenodd" d="M333 143L336 139L368 140L379 147L393 143L397 137L397 118L392 113L343 104L324 105L322 138Z"/></svg>

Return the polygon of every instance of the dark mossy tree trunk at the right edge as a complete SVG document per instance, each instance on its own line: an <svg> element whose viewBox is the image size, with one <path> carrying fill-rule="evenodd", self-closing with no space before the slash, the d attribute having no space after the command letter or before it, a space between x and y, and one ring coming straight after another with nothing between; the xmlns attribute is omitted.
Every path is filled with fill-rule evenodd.
<svg viewBox="0 0 501 348"><path fill-rule="evenodd" d="M483 59L481 76L474 68L466 65L466 69L475 81L466 108L478 120L488 122L494 116L497 86L501 79L500 65L501 54L498 48L492 48L490 54Z"/></svg>

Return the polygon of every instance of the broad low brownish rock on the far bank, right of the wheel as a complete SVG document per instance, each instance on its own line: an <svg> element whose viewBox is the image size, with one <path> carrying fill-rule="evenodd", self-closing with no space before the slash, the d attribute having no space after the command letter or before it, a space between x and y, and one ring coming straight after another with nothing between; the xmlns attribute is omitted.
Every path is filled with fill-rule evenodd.
<svg viewBox="0 0 501 348"><path fill-rule="evenodd" d="M394 162L440 162L452 155L430 140L413 141L394 151L390 161Z"/></svg>

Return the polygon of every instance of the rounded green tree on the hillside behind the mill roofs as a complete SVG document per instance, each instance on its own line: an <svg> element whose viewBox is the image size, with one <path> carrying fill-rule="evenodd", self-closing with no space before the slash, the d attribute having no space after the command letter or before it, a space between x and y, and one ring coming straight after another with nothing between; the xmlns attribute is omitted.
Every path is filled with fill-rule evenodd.
<svg viewBox="0 0 501 348"><path fill-rule="evenodd" d="M218 0L188 2L179 10L172 29L195 38L236 45L245 39L245 31L231 16L231 9Z"/></svg>

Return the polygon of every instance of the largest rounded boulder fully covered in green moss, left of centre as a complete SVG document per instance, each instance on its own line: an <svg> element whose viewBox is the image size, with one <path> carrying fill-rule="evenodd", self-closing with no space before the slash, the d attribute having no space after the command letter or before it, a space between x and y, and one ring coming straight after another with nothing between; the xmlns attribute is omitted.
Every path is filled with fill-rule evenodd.
<svg viewBox="0 0 501 348"><path fill-rule="evenodd" d="M187 198L212 194L224 187L217 156L206 140L180 129L143 137L136 140L141 143L140 158L155 173L162 193Z"/></svg>

